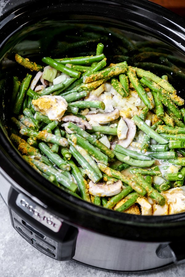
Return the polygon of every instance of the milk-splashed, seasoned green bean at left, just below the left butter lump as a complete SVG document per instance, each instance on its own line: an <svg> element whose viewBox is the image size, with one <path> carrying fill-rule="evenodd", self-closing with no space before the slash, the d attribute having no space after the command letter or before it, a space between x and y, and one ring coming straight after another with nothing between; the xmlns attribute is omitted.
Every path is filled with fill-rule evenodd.
<svg viewBox="0 0 185 277"><path fill-rule="evenodd" d="M45 142L55 143L59 146L64 146L65 147L65 146L68 145L67 139L61 138L61 137L56 136L54 134L50 134L46 130L37 132L37 131L34 131L34 130L31 130L29 128L24 127L24 128L21 128L20 134L23 134L23 135L26 135L26 136L29 136L29 137L36 137L37 139L41 139Z"/></svg>

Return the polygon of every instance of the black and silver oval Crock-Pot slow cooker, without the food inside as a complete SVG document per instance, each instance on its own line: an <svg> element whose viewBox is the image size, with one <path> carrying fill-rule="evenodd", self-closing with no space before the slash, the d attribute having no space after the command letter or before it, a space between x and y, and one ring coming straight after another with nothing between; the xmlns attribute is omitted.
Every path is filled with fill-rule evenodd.
<svg viewBox="0 0 185 277"><path fill-rule="evenodd" d="M169 51L185 60L185 21L146 0L45 0L44 4L31 0L8 8L1 16L0 172L4 182L0 193L14 229L53 259L72 259L114 272L146 271L183 263L185 213L139 216L87 203L39 175L8 138L10 77L21 72L11 59L13 53L34 61L46 54L66 55L67 50L60 47L64 34L68 37L66 30L69 36L79 37L80 32L96 34L101 30L109 38L110 27L134 40L165 43ZM118 42L113 47L109 39L105 42L106 55L115 59ZM119 43L124 42L119 38ZM87 42L73 56L89 54L91 47ZM182 96L183 85L182 80L176 80Z"/></svg>

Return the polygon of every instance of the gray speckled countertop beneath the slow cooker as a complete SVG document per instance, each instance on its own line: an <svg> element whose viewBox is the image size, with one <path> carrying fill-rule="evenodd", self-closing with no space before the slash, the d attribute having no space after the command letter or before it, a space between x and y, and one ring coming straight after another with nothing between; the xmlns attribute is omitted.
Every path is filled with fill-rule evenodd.
<svg viewBox="0 0 185 277"><path fill-rule="evenodd" d="M6 7L17 5L27 0L0 0L0 14ZM0 184L3 180L0 175ZM47 257L32 247L12 227L8 207L0 196L0 272L2 277L183 277L185 264L172 265L166 268L143 273L112 273L84 267L73 261L60 262Z"/></svg>

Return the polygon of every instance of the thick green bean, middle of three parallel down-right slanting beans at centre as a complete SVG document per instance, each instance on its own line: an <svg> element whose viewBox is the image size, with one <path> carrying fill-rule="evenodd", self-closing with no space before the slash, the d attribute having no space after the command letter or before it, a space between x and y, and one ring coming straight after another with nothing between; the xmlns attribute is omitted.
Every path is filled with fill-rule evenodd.
<svg viewBox="0 0 185 277"><path fill-rule="evenodd" d="M98 162L103 163L105 165L108 164L108 157L104 153L102 153L99 149L94 147L91 143L89 143L87 140L84 138L80 137L78 134L71 134L69 136L69 139L79 145L80 147L84 148L89 155L94 157Z"/></svg>

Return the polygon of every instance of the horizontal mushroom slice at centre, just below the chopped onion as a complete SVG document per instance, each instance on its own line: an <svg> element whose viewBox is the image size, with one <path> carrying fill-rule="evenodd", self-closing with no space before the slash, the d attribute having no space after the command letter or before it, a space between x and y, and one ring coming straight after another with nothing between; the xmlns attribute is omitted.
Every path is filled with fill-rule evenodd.
<svg viewBox="0 0 185 277"><path fill-rule="evenodd" d="M93 120L98 123L109 123L119 117L119 110L116 108L112 112L109 113L97 113L97 114L86 114L87 121Z"/></svg>

